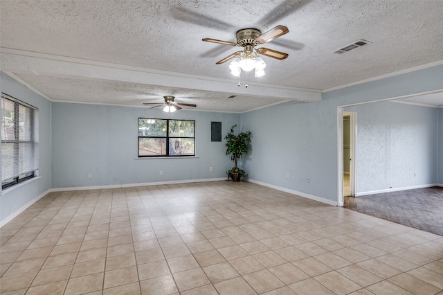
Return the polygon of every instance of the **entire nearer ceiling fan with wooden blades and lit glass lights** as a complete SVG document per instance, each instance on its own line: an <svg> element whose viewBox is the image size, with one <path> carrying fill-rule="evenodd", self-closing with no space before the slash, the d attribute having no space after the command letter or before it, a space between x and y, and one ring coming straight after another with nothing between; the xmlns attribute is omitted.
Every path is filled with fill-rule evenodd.
<svg viewBox="0 0 443 295"><path fill-rule="evenodd" d="M243 51L232 53L227 57L224 57L224 59L216 62L216 64L222 64L233 58L233 61L229 64L229 69L230 73L235 75L235 77L240 77L242 71L245 71L247 78L247 72L252 71L253 69L255 69L255 77L262 77L264 75L266 63L262 60L260 54L277 60L284 60L288 57L288 54L264 47L256 49L255 46L269 42L287 33L289 33L289 29L285 26L276 26L264 34L255 28L245 28L237 31L235 34L237 43L210 38L204 38L201 40L204 42L243 47ZM240 86L240 81L238 82L238 86ZM248 82L246 82L245 86L248 87Z"/></svg>

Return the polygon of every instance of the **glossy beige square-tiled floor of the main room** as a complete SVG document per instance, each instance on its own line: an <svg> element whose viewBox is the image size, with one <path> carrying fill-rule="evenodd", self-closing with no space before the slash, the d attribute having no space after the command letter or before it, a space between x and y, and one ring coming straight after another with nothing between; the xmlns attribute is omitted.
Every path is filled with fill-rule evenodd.
<svg viewBox="0 0 443 295"><path fill-rule="evenodd" d="M443 294L443 237L245 181L50 193L1 294Z"/></svg>

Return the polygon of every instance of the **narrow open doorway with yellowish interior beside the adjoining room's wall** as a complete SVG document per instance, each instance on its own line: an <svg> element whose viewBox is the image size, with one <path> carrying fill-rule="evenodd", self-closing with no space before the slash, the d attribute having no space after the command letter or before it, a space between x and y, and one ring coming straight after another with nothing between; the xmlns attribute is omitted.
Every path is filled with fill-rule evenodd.
<svg viewBox="0 0 443 295"><path fill-rule="evenodd" d="M343 197L355 197L356 113L343 111Z"/></svg>

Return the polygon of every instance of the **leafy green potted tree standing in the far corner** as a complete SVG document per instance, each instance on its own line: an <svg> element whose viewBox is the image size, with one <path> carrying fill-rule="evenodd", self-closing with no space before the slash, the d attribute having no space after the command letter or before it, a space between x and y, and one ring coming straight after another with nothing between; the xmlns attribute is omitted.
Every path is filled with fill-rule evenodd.
<svg viewBox="0 0 443 295"><path fill-rule="evenodd" d="M242 158L244 154L248 153L252 134L250 131L234 134L235 127L237 127L237 125L233 125L233 127L230 128L230 132L224 136L226 140L226 154L230 154L230 159L234 161L234 167L226 171L226 173L228 173L228 179L240 181L246 172L237 167L237 159Z"/></svg>

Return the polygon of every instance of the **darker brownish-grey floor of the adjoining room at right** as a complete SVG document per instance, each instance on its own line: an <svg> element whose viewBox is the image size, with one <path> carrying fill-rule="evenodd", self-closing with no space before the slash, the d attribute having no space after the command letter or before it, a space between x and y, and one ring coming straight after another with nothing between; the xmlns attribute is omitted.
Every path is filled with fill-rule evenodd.
<svg viewBox="0 0 443 295"><path fill-rule="evenodd" d="M344 197L345 208L443 235L443 188Z"/></svg>

